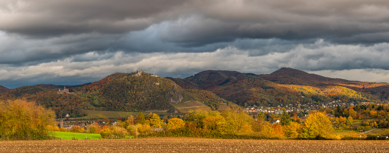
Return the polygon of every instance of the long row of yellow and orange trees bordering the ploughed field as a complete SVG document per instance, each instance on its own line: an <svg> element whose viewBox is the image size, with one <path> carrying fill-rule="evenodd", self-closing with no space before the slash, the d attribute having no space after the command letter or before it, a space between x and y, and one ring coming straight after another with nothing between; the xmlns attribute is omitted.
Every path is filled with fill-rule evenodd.
<svg viewBox="0 0 389 153"><path fill-rule="evenodd" d="M139 113L124 120L117 120L111 127L95 128L89 131L100 132L103 138L124 138L126 134L138 138L148 136L166 137L196 137L225 139L340 139L333 134L331 121L323 112L313 112L300 124L294 122L290 115L284 112L282 122L270 124L264 114L252 117L235 107L223 111L205 112L190 111L182 118L161 120L155 113ZM166 122L166 124L161 124ZM95 125L93 125L95 126ZM79 129L79 127L74 127ZM153 132L152 128L162 128L161 132ZM76 131L76 130L72 130Z"/></svg>

